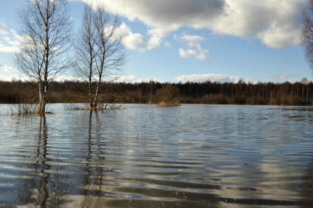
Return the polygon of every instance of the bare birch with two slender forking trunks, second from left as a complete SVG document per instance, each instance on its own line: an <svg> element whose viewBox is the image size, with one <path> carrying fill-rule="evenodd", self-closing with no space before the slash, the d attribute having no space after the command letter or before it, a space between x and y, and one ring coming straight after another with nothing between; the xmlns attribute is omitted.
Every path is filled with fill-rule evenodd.
<svg viewBox="0 0 313 208"><path fill-rule="evenodd" d="M76 45L75 75L83 81L90 109L99 109L99 104L108 101L113 89L107 88L106 95L100 96L101 89L123 72L127 54L120 26L120 16L111 14L104 5L98 4L95 10L85 6Z"/></svg>

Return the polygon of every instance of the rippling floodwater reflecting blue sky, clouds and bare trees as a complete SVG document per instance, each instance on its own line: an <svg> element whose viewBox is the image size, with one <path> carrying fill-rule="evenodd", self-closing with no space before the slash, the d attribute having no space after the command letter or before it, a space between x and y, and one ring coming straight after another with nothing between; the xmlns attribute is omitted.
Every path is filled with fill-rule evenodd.
<svg viewBox="0 0 313 208"><path fill-rule="evenodd" d="M0 207L313 206L312 107L7 107Z"/></svg>

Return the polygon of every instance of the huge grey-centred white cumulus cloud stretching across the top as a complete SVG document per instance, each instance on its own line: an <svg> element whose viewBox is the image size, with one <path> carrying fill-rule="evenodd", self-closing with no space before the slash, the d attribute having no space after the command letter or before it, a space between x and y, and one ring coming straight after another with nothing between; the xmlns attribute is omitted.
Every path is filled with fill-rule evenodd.
<svg viewBox="0 0 313 208"><path fill-rule="evenodd" d="M80 0L92 3L93 0ZM306 0L99 0L111 11L149 29L147 48L181 27L259 38L272 48L300 43L298 16Z"/></svg>

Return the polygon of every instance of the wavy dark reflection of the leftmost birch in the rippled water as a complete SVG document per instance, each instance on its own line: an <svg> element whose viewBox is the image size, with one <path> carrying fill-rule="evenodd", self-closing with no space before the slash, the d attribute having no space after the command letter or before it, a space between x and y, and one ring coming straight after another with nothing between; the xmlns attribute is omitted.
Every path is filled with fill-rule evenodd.
<svg viewBox="0 0 313 208"><path fill-rule="evenodd" d="M62 186L58 184L58 170L52 172L48 164L48 125L46 116L40 116L36 155L29 161L28 172L23 182L23 192L18 196L17 204L31 204L31 207L59 207L65 201Z"/></svg>

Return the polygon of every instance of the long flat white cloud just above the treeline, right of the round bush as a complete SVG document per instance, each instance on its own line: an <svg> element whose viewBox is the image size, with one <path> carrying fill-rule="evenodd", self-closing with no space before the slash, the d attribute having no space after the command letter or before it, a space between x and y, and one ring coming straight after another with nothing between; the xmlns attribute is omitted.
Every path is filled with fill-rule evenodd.
<svg viewBox="0 0 313 208"><path fill-rule="evenodd" d="M227 74L192 74L192 75L181 75L175 77L176 80L182 82L204 82L206 80L211 80L212 82L237 82L239 80L238 76L229 76Z"/></svg>

